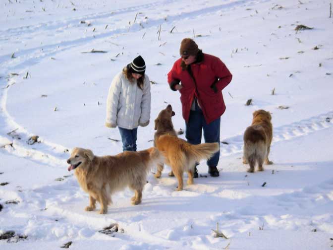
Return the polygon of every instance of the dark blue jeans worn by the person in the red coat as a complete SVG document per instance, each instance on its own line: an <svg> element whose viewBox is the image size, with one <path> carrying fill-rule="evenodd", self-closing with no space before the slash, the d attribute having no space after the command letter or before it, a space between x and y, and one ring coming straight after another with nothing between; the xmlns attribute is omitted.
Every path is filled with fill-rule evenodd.
<svg viewBox="0 0 333 250"><path fill-rule="evenodd" d="M220 124L221 118L218 118L210 124L207 124L202 110L196 104L195 111L191 110L190 118L188 123L186 123L185 137L191 144L200 144L202 130L204 130L205 142L219 142L220 145ZM207 161L207 165L216 167L219 163L219 159L220 150Z"/></svg>

